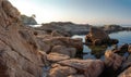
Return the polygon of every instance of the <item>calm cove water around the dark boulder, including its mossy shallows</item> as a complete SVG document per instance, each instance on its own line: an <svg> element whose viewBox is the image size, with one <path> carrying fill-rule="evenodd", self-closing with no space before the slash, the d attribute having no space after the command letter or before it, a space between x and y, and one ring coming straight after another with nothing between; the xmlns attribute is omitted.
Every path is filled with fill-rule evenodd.
<svg viewBox="0 0 131 77"><path fill-rule="evenodd" d="M83 60L86 59L100 59L104 60L104 53L106 50L111 50L116 47L120 47L124 43L131 43L131 31L118 31L109 34L110 38L118 39L118 44L112 46L85 46L83 44ZM85 35L74 35L72 38L82 38L85 42Z"/></svg>

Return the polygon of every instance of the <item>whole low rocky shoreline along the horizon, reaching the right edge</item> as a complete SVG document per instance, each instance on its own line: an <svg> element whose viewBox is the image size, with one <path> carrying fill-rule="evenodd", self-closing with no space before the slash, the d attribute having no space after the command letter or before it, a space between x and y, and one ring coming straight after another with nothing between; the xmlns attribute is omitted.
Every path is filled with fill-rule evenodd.
<svg viewBox="0 0 131 77"><path fill-rule="evenodd" d="M56 30L61 35L71 37L73 35L86 35L87 33L90 33L91 27L95 26L88 24L74 24L71 22L52 22L43 24L40 27L36 27L35 29L45 30L47 33L52 33L53 30ZM107 34L131 30L131 27L122 27L120 25L104 25L97 28L105 30Z"/></svg>

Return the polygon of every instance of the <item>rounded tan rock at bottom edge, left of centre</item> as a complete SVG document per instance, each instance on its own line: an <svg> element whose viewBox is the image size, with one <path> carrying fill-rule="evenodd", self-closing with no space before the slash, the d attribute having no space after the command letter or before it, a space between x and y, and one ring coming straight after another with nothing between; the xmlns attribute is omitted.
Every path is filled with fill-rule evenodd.
<svg viewBox="0 0 131 77"><path fill-rule="evenodd" d="M48 77L68 77L73 74L76 74L75 68L58 65L50 69Z"/></svg>

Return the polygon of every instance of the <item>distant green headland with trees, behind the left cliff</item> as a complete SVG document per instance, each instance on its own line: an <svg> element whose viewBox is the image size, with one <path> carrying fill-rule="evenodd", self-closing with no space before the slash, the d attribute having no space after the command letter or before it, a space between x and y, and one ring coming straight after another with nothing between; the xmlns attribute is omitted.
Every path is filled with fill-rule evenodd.
<svg viewBox="0 0 131 77"><path fill-rule="evenodd" d="M37 25L34 17L28 17L26 15L21 15L21 21L24 25Z"/></svg>

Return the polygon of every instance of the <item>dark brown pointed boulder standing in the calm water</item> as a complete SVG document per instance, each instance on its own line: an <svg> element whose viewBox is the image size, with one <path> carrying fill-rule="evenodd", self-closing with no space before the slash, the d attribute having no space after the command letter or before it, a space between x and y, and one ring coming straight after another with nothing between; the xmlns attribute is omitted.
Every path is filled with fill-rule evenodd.
<svg viewBox="0 0 131 77"><path fill-rule="evenodd" d="M85 37L86 43L91 44L110 44L118 43L118 40L110 39L108 34L97 27L91 27L88 35Z"/></svg>

